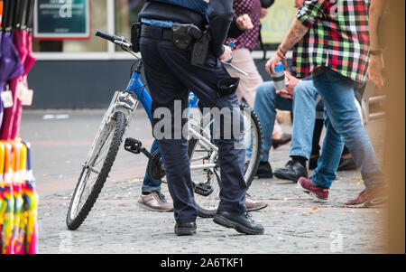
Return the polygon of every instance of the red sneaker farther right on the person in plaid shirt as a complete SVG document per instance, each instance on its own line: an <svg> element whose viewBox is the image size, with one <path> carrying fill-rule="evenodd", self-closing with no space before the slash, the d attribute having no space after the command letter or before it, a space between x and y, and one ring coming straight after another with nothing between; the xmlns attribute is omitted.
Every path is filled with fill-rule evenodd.
<svg viewBox="0 0 406 272"><path fill-rule="evenodd" d="M360 192L355 200L346 202L346 206L367 208L381 205L386 202L387 199L388 197L384 193L384 187L380 185L374 189L365 189L363 192Z"/></svg>

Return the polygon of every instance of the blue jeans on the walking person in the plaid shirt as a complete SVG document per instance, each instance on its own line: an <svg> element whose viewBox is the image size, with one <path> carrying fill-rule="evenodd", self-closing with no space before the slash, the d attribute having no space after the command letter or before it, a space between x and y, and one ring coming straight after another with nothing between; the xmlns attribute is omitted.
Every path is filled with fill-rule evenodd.
<svg viewBox="0 0 406 272"><path fill-rule="evenodd" d="M358 83L334 70L313 79L326 108L326 137L318 168L311 179L314 184L330 187L336 179L344 145L362 174L365 187L372 189L383 182L383 172L355 106Z"/></svg>

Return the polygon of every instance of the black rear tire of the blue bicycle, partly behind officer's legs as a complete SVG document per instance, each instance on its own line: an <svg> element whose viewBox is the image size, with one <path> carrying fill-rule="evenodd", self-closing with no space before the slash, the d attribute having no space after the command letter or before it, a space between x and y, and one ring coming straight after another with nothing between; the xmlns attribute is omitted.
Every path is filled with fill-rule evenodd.
<svg viewBox="0 0 406 272"><path fill-rule="evenodd" d="M254 110L247 106L244 103L239 103L239 107L242 111L245 111L249 114L250 119L251 119L251 124L252 129L255 130L256 134L256 149L254 150L253 154L254 157L251 157L251 162L253 163L253 167L251 167L251 172L249 174L245 173L245 183L247 184L247 187L249 188L251 184L253 183L254 176L256 171L258 170L258 166L260 164L260 155L261 155L261 150L262 150L262 127L261 123L259 121L259 118L255 114ZM192 138L189 140L189 149L188 149L188 154L189 158L191 159L193 156L193 153L195 151L196 145L198 144L198 140L195 138ZM216 178L215 178L216 179ZM197 202L197 207L198 207L198 216L202 218L212 218L216 215L217 209L205 209L201 205L198 204Z"/></svg>

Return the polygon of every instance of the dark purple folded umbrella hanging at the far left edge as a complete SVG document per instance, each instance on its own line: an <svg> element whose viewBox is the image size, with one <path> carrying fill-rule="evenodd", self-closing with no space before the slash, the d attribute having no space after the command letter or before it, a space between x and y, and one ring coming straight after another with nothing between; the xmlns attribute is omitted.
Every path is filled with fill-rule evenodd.
<svg viewBox="0 0 406 272"><path fill-rule="evenodd" d="M23 75L24 68L14 47L12 33L0 34L2 35L0 46L0 93L2 93L5 90L7 81ZM3 110L3 101L0 101L0 127L3 123Z"/></svg>

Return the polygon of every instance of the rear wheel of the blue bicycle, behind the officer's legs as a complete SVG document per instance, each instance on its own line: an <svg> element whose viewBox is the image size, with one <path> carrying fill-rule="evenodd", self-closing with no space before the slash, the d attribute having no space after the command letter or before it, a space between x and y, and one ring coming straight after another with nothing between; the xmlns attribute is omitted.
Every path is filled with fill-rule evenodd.
<svg viewBox="0 0 406 272"><path fill-rule="evenodd" d="M245 183L251 186L254 180L254 175L260 163L260 154L262 148L262 129L258 117L252 108L240 103L240 109L243 113L245 122L245 146L252 145L251 158L245 160ZM206 136L211 135L209 132ZM192 138L189 140L189 158L190 166L209 164L213 150L205 143L198 139ZM217 161L217 158L216 158ZM216 169L218 168L218 169ZM217 212L217 207L220 202L219 192L220 186L217 178L220 177L220 169L195 169L190 170L191 179L194 183L204 183L211 186L213 191L209 195L200 195L195 193L195 200L198 205L198 216L204 218L213 217ZM217 174L214 173L217 172ZM218 175L218 176L217 176Z"/></svg>

